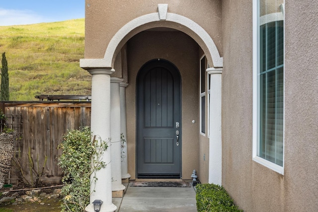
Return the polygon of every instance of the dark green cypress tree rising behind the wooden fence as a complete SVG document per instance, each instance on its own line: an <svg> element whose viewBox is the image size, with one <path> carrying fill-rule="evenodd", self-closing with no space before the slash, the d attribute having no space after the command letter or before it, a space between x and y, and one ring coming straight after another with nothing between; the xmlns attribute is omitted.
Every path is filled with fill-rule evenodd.
<svg viewBox="0 0 318 212"><path fill-rule="evenodd" d="M5 52L2 53L0 101L9 101L9 74Z"/></svg>

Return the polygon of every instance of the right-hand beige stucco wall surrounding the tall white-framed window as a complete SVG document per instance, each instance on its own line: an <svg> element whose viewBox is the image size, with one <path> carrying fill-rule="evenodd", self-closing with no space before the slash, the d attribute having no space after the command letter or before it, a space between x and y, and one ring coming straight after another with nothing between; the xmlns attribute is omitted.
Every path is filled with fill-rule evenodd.
<svg viewBox="0 0 318 212"><path fill-rule="evenodd" d="M252 1L223 0L222 184L245 212L318 211L318 5L285 4L285 168L252 161ZM306 11L306 12L304 12Z"/></svg>

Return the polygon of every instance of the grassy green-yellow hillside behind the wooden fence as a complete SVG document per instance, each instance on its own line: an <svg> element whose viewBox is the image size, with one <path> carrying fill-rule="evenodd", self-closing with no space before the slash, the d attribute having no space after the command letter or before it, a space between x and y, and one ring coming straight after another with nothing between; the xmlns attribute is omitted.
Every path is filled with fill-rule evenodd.
<svg viewBox="0 0 318 212"><path fill-rule="evenodd" d="M84 19L0 26L0 53L8 62L10 101L36 95L90 95L84 58ZM1 66L0 66L1 67Z"/></svg>

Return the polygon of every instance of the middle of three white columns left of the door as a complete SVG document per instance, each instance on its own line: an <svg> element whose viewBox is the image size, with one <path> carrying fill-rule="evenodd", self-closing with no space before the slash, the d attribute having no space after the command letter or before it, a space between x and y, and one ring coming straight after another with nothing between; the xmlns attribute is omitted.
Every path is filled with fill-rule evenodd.
<svg viewBox="0 0 318 212"><path fill-rule="evenodd" d="M121 191L125 186L121 183L121 139L120 139L120 93L119 83L122 79L110 79L110 123L111 123L111 176L112 191Z"/></svg>

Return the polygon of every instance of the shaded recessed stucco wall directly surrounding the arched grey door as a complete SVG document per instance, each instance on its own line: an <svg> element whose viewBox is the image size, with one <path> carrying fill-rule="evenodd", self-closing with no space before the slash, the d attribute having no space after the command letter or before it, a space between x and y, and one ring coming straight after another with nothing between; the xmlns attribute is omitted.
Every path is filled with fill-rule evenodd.
<svg viewBox="0 0 318 212"><path fill-rule="evenodd" d="M128 172L136 177L136 78L140 68L148 61L162 58L179 70L182 84L182 179L191 180L193 169L198 169L199 150L199 47L189 36L179 31L145 31L127 44L128 81L127 146ZM195 120L195 123L192 123Z"/></svg>

